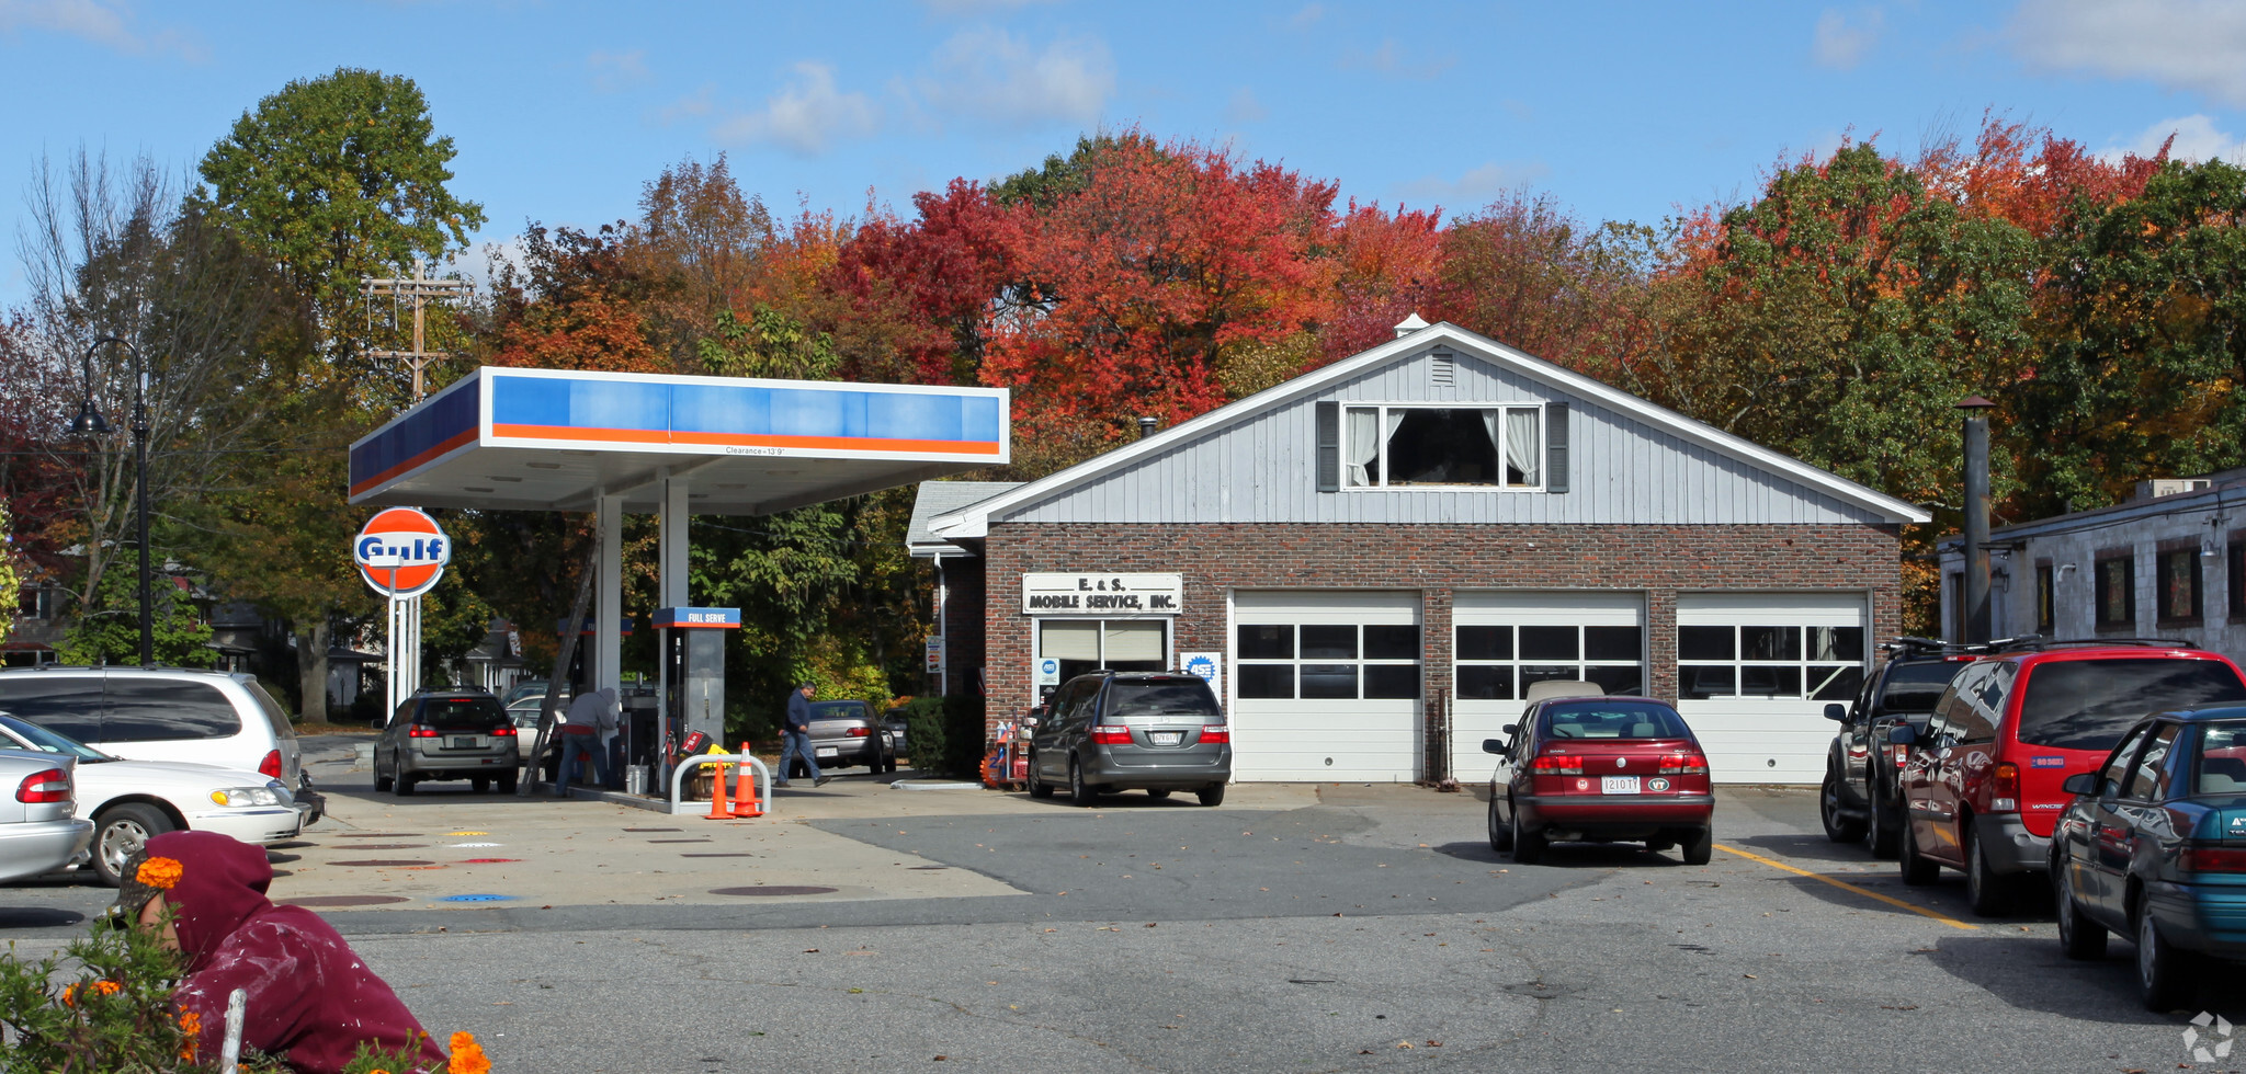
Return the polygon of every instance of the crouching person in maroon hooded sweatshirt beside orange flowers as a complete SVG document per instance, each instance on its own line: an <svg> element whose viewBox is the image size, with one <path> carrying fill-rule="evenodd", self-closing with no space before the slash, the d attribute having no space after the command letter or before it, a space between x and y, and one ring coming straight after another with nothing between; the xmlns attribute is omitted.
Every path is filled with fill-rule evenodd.
<svg viewBox="0 0 2246 1074"><path fill-rule="evenodd" d="M411 1049L416 1070L445 1070L445 1052L413 1011L328 922L265 897L274 879L265 848L218 832L164 832L124 874L115 913L162 928L166 946L186 953L186 978L171 996L200 1020L200 1063L218 1061L227 996L243 989L243 1043L290 1070L341 1072L359 1045Z"/></svg>

